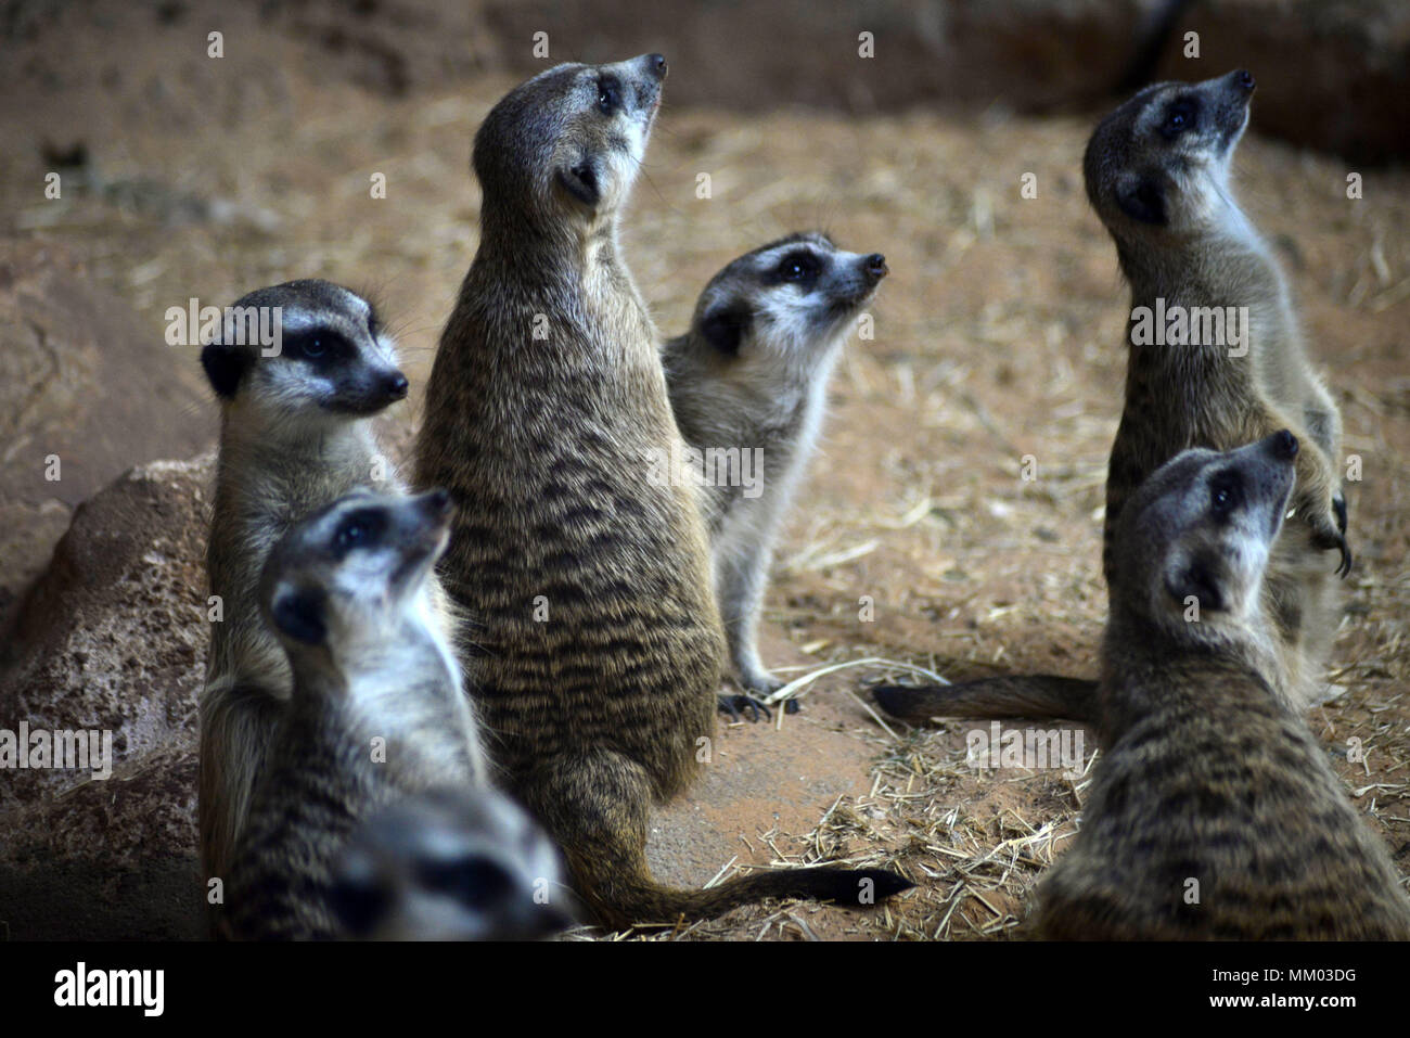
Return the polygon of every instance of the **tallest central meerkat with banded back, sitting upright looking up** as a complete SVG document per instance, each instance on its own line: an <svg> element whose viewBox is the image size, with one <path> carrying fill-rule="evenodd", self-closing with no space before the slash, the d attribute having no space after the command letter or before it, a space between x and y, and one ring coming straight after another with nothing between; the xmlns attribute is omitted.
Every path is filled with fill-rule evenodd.
<svg viewBox="0 0 1410 1038"><path fill-rule="evenodd" d="M441 574L477 623L486 749L609 927L909 886L819 867L687 891L646 865L651 802L709 759L725 656L695 488L656 478L681 440L618 245L664 78L656 54L558 65L485 117L479 248L417 440L417 485L457 506Z"/></svg>

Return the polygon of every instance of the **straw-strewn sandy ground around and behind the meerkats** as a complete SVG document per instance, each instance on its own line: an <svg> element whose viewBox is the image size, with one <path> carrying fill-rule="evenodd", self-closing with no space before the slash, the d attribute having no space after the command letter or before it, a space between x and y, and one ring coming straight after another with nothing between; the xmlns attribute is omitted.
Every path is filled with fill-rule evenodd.
<svg viewBox="0 0 1410 1038"><path fill-rule="evenodd" d="M11 228L65 243L131 302L151 324L154 364L197 377L193 353L162 346L168 306L323 276L381 299L420 386L475 248L470 138L509 85L389 102L288 80L259 87L258 120L89 128L107 178L228 199L245 214L230 223L179 223L161 203L83 192L45 203L34 188L45 164L27 147L0 155L0 200ZM893 271L876 337L850 344L835 378L825 443L778 551L768 663L1093 673L1125 289L1081 192L1091 123L663 110L625 228L663 333L684 326L715 269L790 230L825 228L884 252ZM1242 196L1286 264L1363 474L1347 488L1358 561L1334 654L1348 692L1311 721L1410 873L1410 175L1362 171L1365 199L1348 200L1344 164L1256 131L1255 102ZM369 197L376 172L386 199ZM1019 196L1025 172L1036 199ZM393 419L399 437L417 408L413 398ZM1038 478L1022 481L1029 454ZM891 863L919 889L866 915L746 908L691 936L995 936L1021 918L1028 886L1072 832L1080 788L1058 771L966 767L973 725L883 728L860 694L884 674L843 670L811 685L804 714L781 728L725 731L698 788L656 817L649 850L682 884L732 862L828 856ZM1365 764L1345 760L1352 736Z"/></svg>

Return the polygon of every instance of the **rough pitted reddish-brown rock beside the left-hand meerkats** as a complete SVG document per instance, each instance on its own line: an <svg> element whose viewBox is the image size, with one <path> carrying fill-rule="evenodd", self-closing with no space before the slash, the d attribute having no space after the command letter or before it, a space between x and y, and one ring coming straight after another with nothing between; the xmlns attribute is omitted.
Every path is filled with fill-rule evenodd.
<svg viewBox="0 0 1410 1038"><path fill-rule="evenodd" d="M111 777L0 781L11 938L199 936L196 701L214 454L134 468L73 513L0 659L0 729L111 733ZM92 764L93 762L90 762Z"/></svg>

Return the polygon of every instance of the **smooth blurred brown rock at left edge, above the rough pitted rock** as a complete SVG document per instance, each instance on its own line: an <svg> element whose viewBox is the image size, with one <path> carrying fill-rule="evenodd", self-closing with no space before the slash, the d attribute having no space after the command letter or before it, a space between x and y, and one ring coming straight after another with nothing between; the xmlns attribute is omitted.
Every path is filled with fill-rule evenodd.
<svg viewBox="0 0 1410 1038"><path fill-rule="evenodd" d="M0 240L0 616L44 568L75 505L214 434L193 350L166 346L159 326L89 282L63 247Z"/></svg>

